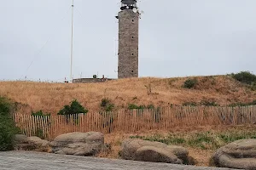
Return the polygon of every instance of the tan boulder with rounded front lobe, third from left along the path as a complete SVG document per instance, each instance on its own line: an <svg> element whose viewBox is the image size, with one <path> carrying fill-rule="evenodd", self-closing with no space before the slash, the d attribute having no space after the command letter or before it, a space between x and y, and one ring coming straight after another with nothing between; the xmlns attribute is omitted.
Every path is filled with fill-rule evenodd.
<svg viewBox="0 0 256 170"><path fill-rule="evenodd" d="M133 161L193 164L193 162L189 162L189 151L181 146L142 139L125 139L122 143L120 155L123 159Z"/></svg>

